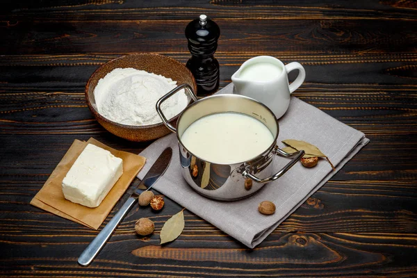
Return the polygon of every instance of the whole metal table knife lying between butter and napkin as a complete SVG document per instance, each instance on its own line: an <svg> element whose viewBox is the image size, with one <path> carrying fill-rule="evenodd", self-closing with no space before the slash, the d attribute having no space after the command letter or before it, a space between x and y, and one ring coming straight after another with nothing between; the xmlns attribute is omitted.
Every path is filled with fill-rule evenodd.
<svg viewBox="0 0 417 278"><path fill-rule="evenodd" d="M81 253L78 262L80 265L88 266L93 259L99 254L101 248L104 247L108 238L111 237L113 231L116 229L117 225L122 221L124 215L132 208L138 199L140 193L147 191L154 186L156 181L165 173L168 165L170 165L172 157L172 149L167 147L162 154L156 159L154 165L149 169L145 177L140 181L138 188L135 192L132 193L131 197L124 202L122 208L113 216L113 218L106 224L106 226L100 231L100 233L95 237L94 240L85 248L84 252ZM142 190L141 188L147 188Z"/></svg>

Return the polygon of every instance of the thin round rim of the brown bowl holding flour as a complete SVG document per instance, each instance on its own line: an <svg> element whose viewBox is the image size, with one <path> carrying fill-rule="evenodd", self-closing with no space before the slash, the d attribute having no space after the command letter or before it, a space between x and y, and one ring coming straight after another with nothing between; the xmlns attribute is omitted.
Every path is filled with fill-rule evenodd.
<svg viewBox="0 0 417 278"><path fill-rule="evenodd" d="M194 75L190 72L190 70L188 70L188 67L186 67L186 65L183 65L181 62L175 60L174 58L171 58L169 56L165 56L165 55L162 55L162 54L157 54L157 53L133 53L133 54L126 54L126 55L122 55L122 56L113 58L111 60L108 60L106 63L103 63L102 65L100 65L99 67L97 67L97 69L91 74L90 78L88 79L87 83L85 84L85 92L84 92L85 101L87 102L88 108L90 108L90 111L92 111L93 114L94 114L94 116L97 117L99 120L104 121L104 122L107 122L109 124L114 124L116 126L119 126L121 128L124 128L124 129L152 129L154 127L165 126L165 124L163 122L160 122L158 124L148 124L148 125L145 125L145 126L136 126L136 125L130 125L130 124L120 124L119 122L114 122L113 120L109 120L108 118L104 117L103 115L101 115L99 113L99 111L97 111L97 109L94 106L92 106L92 103L91 103L90 98L88 96L88 87L90 85L90 81L91 81L92 77L95 76L96 74L98 74L98 72L105 65L107 65L108 63L114 63L116 60L122 60L122 59L125 59L125 58L129 57L129 56L156 56L158 58L164 58L164 59L166 58L168 60L171 60L173 63L176 63L176 64L178 64L178 65L180 65L180 66L182 66L182 67L184 67L186 69L186 71L190 74L191 78L193 79L193 90L194 90L194 92L197 91L197 83L195 81ZM179 84L179 85L181 85L181 84ZM92 94L94 94L94 90L92 90ZM188 103L187 106L188 105L190 105L190 103ZM187 108L187 106L186 106L186 108ZM174 117L172 117L168 122L174 122L174 121L176 121L179 118L179 116L181 115L181 113L183 113L183 111L181 111L178 115L175 115Z"/></svg>

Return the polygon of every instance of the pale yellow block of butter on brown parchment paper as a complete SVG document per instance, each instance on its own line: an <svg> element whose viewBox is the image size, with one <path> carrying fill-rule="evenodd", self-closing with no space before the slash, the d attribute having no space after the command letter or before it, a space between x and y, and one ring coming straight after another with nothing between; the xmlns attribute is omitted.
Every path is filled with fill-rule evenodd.
<svg viewBox="0 0 417 278"><path fill-rule="evenodd" d="M88 144L63 179L65 199L95 208L122 174L122 158Z"/></svg>

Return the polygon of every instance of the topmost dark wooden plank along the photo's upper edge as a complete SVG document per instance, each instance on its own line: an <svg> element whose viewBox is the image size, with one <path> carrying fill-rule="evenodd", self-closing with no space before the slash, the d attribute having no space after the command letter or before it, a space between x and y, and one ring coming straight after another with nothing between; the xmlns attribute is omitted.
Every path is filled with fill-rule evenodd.
<svg viewBox="0 0 417 278"><path fill-rule="evenodd" d="M208 13L215 19L404 19L416 20L414 1L6 1L4 19L33 20L172 20ZM0 17L1 18L1 17Z"/></svg>

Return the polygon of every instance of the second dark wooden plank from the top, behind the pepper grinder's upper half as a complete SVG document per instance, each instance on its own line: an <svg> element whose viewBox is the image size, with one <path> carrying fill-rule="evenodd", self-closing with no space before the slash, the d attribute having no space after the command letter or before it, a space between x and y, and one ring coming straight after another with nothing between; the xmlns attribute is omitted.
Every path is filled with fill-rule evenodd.
<svg viewBox="0 0 417 278"><path fill-rule="evenodd" d="M188 53L184 29L189 20L154 21L19 21L0 28L4 54L123 54L172 51ZM270 52L355 54L416 51L417 21L384 25L383 20L300 19L216 21L221 28L218 53ZM366 26L366 28L363 28ZM244 30L244 32L243 32ZM160 34L163 32L163 36ZM169 44L165 42L169 41ZM19 42L19 44L13 44ZM275 43L273 43L275 42ZM70 46L70 47L69 47Z"/></svg>

